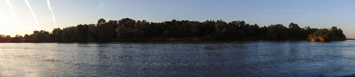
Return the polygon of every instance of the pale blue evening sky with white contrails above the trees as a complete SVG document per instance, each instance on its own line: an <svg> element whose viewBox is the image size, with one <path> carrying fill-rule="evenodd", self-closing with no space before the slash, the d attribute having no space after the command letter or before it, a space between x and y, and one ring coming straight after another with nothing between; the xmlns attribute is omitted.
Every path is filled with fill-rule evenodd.
<svg viewBox="0 0 355 77"><path fill-rule="evenodd" d="M176 20L226 22L244 20L268 26L290 23L300 27L342 28L355 38L354 0L0 0L0 34L51 32L98 19ZM48 2L50 6L48 5ZM29 8L29 6L32 9ZM50 10L51 9L51 10Z"/></svg>

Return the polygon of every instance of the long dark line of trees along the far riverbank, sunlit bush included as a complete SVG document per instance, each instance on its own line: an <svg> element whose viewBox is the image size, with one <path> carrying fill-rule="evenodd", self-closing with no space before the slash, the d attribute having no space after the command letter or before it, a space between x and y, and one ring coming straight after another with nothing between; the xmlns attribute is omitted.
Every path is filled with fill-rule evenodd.
<svg viewBox="0 0 355 77"><path fill-rule="evenodd" d="M124 18L120 20L99 19L97 24L79 24L53 31L33 31L23 37L0 35L0 42L110 42L110 41L235 41L235 40L346 40L343 31L337 27L317 29L301 28L290 23L258 26L245 21L171 20L162 23Z"/></svg>

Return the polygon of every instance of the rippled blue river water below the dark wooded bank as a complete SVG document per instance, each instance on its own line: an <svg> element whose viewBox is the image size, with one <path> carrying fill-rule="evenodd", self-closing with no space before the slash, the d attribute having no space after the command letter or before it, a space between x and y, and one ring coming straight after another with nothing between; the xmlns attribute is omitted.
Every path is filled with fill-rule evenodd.
<svg viewBox="0 0 355 77"><path fill-rule="evenodd" d="M0 43L0 77L344 76L355 41Z"/></svg>

